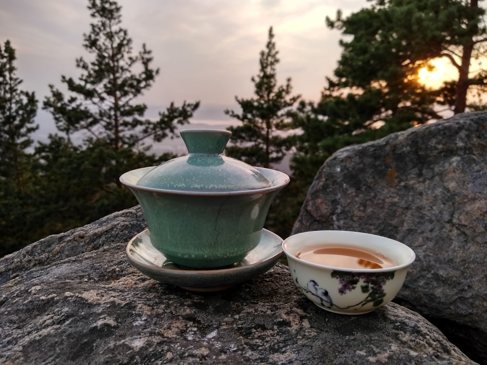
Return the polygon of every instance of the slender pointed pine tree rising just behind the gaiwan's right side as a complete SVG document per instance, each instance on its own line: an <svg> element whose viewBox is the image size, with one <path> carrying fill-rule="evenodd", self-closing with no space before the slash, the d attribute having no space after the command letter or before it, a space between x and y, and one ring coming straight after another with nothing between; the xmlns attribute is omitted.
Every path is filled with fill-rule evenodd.
<svg viewBox="0 0 487 365"><path fill-rule="evenodd" d="M291 95L290 78L285 85L278 86L278 53L270 27L266 49L260 56L260 72L251 78L256 97L235 97L242 113L225 110L225 114L243 122L242 126L228 128L232 132L232 142L235 145L228 146L226 153L248 164L262 167L281 162L292 147L291 138L276 132L291 128L287 112L300 98L300 95Z"/></svg>

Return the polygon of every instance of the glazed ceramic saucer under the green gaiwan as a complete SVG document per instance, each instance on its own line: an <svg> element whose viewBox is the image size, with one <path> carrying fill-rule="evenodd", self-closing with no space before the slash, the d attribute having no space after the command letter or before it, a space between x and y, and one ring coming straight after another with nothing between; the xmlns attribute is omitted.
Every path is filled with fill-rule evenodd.
<svg viewBox="0 0 487 365"><path fill-rule="evenodd" d="M263 229L261 241L242 261L216 270L178 267L152 246L149 229L133 237L125 252L132 266L152 279L194 292L212 292L230 288L273 267L282 254L282 238Z"/></svg>

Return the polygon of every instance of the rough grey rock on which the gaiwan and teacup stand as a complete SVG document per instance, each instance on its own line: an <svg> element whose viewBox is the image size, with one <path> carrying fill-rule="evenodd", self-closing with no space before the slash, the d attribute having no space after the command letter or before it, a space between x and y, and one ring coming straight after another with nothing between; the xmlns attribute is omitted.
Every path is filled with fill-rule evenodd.
<svg viewBox="0 0 487 365"><path fill-rule="evenodd" d="M0 259L0 363L475 364L400 305L319 309L281 264L224 292L162 285L125 258L143 228L137 207Z"/></svg>

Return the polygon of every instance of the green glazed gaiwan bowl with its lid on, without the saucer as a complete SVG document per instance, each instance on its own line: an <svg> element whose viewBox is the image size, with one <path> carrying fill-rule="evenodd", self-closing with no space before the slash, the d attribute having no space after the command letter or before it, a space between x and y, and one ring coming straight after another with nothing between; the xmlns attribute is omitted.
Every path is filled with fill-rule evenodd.
<svg viewBox="0 0 487 365"><path fill-rule="evenodd" d="M218 269L241 261L259 244L269 206L289 183L283 172L225 156L230 136L182 130L187 156L120 177L142 206L152 245L182 267Z"/></svg>

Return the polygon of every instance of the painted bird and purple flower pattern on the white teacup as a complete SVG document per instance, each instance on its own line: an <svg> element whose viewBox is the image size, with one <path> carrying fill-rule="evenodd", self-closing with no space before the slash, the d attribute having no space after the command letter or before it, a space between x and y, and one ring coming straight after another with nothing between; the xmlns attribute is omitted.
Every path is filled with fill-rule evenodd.
<svg viewBox="0 0 487 365"><path fill-rule="evenodd" d="M384 297L386 292L384 292L383 286L388 280L394 278L395 272L381 272L381 273L356 273L351 271L340 271L334 270L331 273L332 278L336 278L340 284L338 288L338 294L344 295L347 292L351 292L356 289L357 285L360 283L360 290L362 293L367 294L359 303L348 307L339 307L333 303L332 296L326 288L321 288L318 282L314 279L308 281L306 286L302 286L298 282L298 277L296 276L296 284L300 287L303 293L310 293L315 296L321 306L332 309L360 309L366 304L372 303L374 307L380 306L384 302Z"/></svg>

